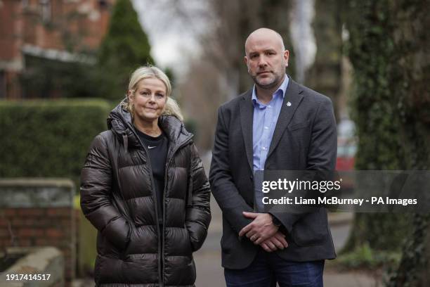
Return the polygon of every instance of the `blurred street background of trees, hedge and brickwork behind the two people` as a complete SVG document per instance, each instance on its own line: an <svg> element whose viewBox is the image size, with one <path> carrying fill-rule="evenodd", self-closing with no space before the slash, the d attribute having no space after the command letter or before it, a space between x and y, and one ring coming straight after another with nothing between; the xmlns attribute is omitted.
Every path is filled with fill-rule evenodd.
<svg viewBox="0 0 430 287"><path fill-rule="evenodd" d="M93 286L79 173L131 72L167 72L208 171L217 108L252 88L244 43L259 27L282 35L293 79L332 98L337 170L429 170L429 2L0 0L0 274ZM225 286L211 208L196 286ZM428 286L429 215L329 219L326 286Z"/></svg>

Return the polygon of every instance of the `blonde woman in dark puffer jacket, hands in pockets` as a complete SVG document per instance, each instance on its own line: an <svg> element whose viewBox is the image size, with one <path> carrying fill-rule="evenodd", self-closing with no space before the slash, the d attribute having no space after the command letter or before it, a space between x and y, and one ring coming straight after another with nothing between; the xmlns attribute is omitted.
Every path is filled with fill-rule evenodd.
<svg viewBox="0 0 430 287"><path fill-rule="evenodd" d="M193 135L156 67L131 75L109 130L93 140L81 206L98 229L97 286L193 286L210 190Z"/></svg>

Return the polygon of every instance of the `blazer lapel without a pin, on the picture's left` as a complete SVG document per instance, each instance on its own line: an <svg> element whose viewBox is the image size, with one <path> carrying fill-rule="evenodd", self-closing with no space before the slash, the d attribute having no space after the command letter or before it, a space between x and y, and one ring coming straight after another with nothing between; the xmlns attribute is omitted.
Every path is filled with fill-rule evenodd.
<svg viewBox="0 0 430 287"><path fill-rule="evenodd" d="M240 101L240 124L242 125L242 136L245 141L245 152L247 153L248 164L253 170L254 151L252 148L252 122L254 117L254 106L252 106L252 90L242 96Z"/></svg>

